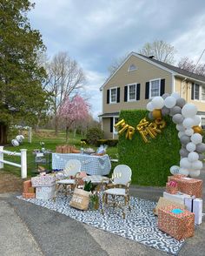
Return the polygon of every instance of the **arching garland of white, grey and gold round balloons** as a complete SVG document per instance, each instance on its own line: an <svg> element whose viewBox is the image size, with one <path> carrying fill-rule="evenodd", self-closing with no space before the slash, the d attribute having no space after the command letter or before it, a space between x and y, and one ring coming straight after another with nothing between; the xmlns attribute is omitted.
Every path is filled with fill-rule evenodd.
<svg viewBox="0 0 205 256"><path fill-rule="evenodd" d="M170 168L172 174L180 173L195 178L200 175L202 159L205 156L205 144L202 143L202 128L199 126L201 118L196 115L195 104L187 104L177 92L155 97L147 104L149 118L156 119L157 115L162 117L169 115L176 125L178 137L182 144L180 150L180 166L173 165Z"/></svg>

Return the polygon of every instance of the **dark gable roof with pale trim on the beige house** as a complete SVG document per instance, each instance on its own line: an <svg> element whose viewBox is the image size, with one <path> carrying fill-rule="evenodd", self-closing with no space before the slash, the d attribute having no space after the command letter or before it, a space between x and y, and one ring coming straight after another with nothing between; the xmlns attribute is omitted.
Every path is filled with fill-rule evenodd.
<svg viewBox="0 0 205 256"><path fill-rule="evenodd" d="M178 75L178 76L182 76L182 77L188 77L188 78L191 78L193 80L197 80L199 82L205 82L205 77L204 76L197 75L195 73L182 70L181 68L175 67L175 66L173 66L171 64L166 64L166 63L164 63L162 61L156 60L155 58L147 57L147 56L144 56L142 54L139 54L139 53L136 53L136 52L132 51L132 52L129 53L128 57L126 57L124 59L122 64L119 65L119 67L116 69L116 71L110 77L108 77L108 79L106 79L104 84L102 84L102 86L100 87L101 91L102 91L103 86L105 84L107 84L109 82L109 80L116 75L116 72L119 71L119 69L122 67L122 65L125 64L127 62L127 60L129 59L129 57L131 57L131 56L139 57L142 60L147 61L150 64L154 64L158 68L160 68L160 69L162 69L164 71L168 71L168 72L170 72L171 74L173 74L175 76Z"/></svg>

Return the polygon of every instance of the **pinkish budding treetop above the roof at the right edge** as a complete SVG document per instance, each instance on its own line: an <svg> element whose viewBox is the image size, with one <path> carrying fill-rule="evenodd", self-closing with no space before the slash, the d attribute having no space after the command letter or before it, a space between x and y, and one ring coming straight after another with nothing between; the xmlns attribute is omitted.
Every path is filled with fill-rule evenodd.
<svg viewBox="0 0 205 256"><path fill-rule="evenodd" d="M205 76L205 64L195 64L194 60L188 57L182 57L178 63L178 67L182 70L193 72L197 75Z"/></svg>

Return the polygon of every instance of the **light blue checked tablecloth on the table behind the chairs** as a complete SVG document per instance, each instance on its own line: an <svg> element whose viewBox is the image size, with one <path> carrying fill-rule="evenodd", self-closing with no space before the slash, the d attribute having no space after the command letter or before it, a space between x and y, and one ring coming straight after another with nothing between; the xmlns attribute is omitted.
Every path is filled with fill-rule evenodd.
<svg viewBox="0 0 205 256"><path fill-rule="evenodd" d="M60 154L52 153L52 169L63 169L69 159L81 162L81 171L89 175L108 175L111 163L108 155L90 156L86 154Z"/></svg>

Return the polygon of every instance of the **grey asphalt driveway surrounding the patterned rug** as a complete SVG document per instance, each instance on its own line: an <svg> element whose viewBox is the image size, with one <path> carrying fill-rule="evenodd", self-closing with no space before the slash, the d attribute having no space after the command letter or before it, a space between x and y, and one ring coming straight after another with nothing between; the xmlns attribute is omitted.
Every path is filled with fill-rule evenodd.
<svg viewBox="0 0 205 256"><path fill-rule="evenodd" d="M205 172L199 177L204 180ZM163 188L133 186L131 194L157 201ZM203 205L204 207L204 205ZM204 208L203 208L204 209ZM179 255L205 255L205 222L186 239ZM0 194L0 255L1 256L56 256L56 255L168 255L149 246L74 219L16 199L16 194Z"/></svg>

